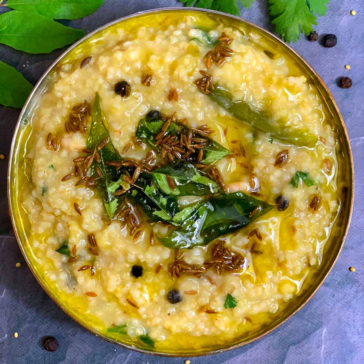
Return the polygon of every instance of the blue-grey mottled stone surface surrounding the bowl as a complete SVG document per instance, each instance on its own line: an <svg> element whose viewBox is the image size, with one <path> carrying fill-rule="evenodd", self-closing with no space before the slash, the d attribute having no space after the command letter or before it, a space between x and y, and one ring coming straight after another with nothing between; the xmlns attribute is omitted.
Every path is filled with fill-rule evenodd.
<svg viewBox="0 0 364 364"><path fill-rule="evenodd" d="M87 32L138 11L181 5L177 0L105 0L94 14L64 21ZM241 16L272 31L268 2L256 0ZM0 8L0 13L6 11ZM350 15L355 9L356 16ZM199 358L191 363L249 364L362 364L364 363L364 2L331 0L325 17L318 19L319 34L335 33L335 48L324 48L304 37L293 47L316 69L329 87L344 116L355 163L356 198L344 249L331 274L310 302L287 323L253 344L230 352ZM33 84L63 50L29 55L0 45L0 59L15 66ZM344 65L350 64L351 70ZM353 87L337 86L340 76L353 79ZM0 153L8 155L19 110L0 106ZM23 261L8 217L7 160L0 160L0 363L1 364L157 364L179 363L182 358L135 353L95 337L71 320L40 288ZM355 266L356 272L348 271ZM18 332L15 339L13 333ZM52 335L60 347L48 353L41 338Z"/></svg>

